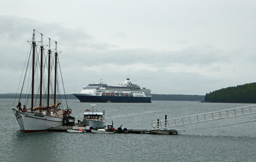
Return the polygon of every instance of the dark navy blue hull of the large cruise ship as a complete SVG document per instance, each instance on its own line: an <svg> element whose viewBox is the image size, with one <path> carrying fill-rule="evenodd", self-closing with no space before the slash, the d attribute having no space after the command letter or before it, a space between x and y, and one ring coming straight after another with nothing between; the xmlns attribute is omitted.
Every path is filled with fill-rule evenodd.
<svg viewBox="0 0 256 162"><path fill-rule="evenodd" d="M75 95L75 94L74 94ZM77 96L80 102L130 102L130 103L151 103L151 97L127 97L127 96Z"/></svg>

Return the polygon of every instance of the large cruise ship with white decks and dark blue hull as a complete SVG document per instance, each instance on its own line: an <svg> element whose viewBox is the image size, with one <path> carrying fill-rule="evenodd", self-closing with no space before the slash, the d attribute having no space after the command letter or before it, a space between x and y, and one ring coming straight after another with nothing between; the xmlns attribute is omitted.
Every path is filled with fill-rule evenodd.
<svg viewBox="0 0 256 162"><path fill-rule="evenodd" d="M118 85L107 85L102 79L98 83L83 87L80 93L73 93L80 102L137 102L151 103L151 90L132 84L130 79Z"/></svg>

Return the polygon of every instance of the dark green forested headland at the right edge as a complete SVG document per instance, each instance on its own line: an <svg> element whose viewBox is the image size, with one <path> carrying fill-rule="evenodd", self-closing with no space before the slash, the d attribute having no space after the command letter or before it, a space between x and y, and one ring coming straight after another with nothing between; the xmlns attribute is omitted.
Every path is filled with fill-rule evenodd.
<svg viewBox="0 0 256 162"><path fill-rule="evenodd" d="M256 83L222 88L207 93L205 102L256 103Z"/></svg>

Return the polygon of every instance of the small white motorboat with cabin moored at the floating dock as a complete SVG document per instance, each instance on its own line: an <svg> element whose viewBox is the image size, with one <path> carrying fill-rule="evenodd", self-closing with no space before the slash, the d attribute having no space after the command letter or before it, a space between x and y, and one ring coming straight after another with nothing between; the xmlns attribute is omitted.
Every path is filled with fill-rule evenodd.
<svg viewBox="0 0 256 162"><path fill-rule="evenodd" d="M105 120L105 111L98 111L96 107L96 111L94 110L94 106L96 104L91 104L92 111L86 109L83 113L83 126L90 126L93 128L105 128L106 120Z"/></svg>

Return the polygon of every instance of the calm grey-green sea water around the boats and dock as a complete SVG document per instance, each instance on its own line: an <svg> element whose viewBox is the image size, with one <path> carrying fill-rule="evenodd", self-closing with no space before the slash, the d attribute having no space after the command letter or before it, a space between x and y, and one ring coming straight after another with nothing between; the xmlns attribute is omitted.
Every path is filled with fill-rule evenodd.
<svg viewBox="0 0 256 162"><path fill-rule="evenodd" d="M66 132L19 131L11 110L13 99L0 99L0 161L158 161L158 162L254 162L256 159L256 115L220 119L179 126L179 135L72 134ZM68 100L77 119L92 103ZM152 101L152 103L96 103L105 110L107 124L127 129L152 129L151 123L251 104ZM238 124L248 122L244 124ZM212 126L225 126L207 128Z"/></svg>

